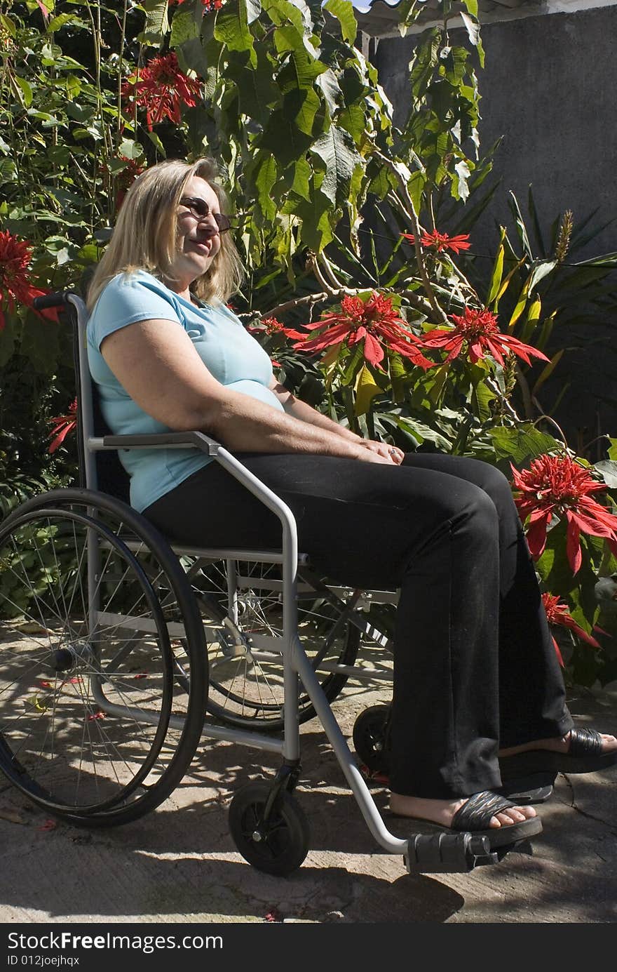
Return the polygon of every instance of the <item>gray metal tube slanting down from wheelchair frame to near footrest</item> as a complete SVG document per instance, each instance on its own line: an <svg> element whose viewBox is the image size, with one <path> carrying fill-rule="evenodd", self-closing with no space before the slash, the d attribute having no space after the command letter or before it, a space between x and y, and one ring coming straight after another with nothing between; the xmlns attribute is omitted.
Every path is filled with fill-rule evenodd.
<svg viewBox="0 0 617 972"><path fill-rule="evenodd" d="M375 840L381 844L384 850L389 851L390 853L406 854L407 841L401 840L399 837L394 837L394 834L390 833L382 819L382 816L377 810L375 801L370 794L370 790L362 779L360 770L358 769L350 748L347 745L347 740L343 736L341 728L334 717L334 713L329 707L324 690L319 682L318 677L313 671L311 663L306 657L306 653L304 652L299 639L294 640L293 648L293 664L297 668L299 676L302 679L304 689L308 693L308 696L315 707L315 712L317 712L322 725L324 726L327 739L334 749L334 753L338 759L340 767L345 774L354 796L356 797L356 801L360 807L360 813L364 817L368 829Z"/></svg>

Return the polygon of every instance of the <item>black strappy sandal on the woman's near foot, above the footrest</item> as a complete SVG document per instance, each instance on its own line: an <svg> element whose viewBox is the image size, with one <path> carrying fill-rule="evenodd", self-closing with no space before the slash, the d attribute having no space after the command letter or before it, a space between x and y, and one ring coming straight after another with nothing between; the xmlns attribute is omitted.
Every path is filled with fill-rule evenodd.
<svg viewBox="0 0 617 972"><path fill-rule="evenodd" d="M500 827L491 827L491 817L496 816L501 810L509 807L522 806L506 800L491 790L483 790L481 793L474 793L470 796L460 810L452 817L452 824L444 827L434 820L428 820L423 816L405 816L393 814L392 816L403 817L412 823L422 822L431 824L441 833L461 834L470 833L474 837L487 837L491 850L505 847L506 845L518 844L529 837L534 837L542 830L542 821L539 816L531 816L528 820L520 820L518 823L502 824Z"/></svg>

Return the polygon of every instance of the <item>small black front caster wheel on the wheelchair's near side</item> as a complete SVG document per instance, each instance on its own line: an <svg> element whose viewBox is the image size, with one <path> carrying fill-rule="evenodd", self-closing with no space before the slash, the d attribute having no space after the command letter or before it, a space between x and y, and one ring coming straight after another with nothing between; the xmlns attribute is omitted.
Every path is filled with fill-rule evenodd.
<svg viewBox="0 0 617 972"><path fill-rule="evenodd" d="M247 783L229 805L229 830L245 860L258 871L286 877L308 853L309 825L304 811L287 790L281 790L267 823L263 811L271 784Z"/></svg>

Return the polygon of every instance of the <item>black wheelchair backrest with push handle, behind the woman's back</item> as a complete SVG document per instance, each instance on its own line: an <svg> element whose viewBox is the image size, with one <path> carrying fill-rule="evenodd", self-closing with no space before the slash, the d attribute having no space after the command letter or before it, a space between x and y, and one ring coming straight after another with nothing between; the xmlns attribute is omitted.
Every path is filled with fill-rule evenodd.
<svg viewBox="0 0 617 972"><path fill-rule="evenodd" d="M98 489L103 493L128 503L129 476L120 463L116 450L91 448L92 439L111 435L101 411L97 388L90 376L87 364L86 324L87 308L81 296L66 296L75 324L75 370L77 382L78 452L81 484L86 489Z"/></svg>

